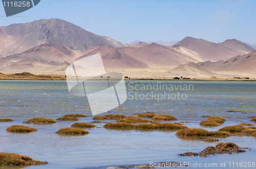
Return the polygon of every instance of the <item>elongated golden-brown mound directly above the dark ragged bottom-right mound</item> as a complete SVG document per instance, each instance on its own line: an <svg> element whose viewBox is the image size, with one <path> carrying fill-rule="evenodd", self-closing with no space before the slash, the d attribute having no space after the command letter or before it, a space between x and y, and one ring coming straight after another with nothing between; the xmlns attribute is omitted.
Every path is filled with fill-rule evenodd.
<svg viewBox="0 0 256 169"><path fill-rule="evenodd" d="M179 136L230 136L227 132L207 131L201 128L185 128L176 132Z"/></svg>

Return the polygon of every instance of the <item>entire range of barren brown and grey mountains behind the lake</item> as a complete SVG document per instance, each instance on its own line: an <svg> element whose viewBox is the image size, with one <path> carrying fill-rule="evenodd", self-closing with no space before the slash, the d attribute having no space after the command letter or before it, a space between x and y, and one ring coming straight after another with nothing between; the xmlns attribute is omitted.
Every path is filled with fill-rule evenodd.
<svg viewBox="0 0 256 169"><path fill-rule="evenodd" d="M212 76L218 71L238 70L234 67L249 61L247 58L240 63L249 53L251 59L246 62L247 68L240 66L239 69L254 71L252 58L256 49L251 46L253 44L247 45L236 39L217 44L192 37L181 41L124 44L61 19L41 19L0 26L0 71L60 73L77 60L100 53L106 69L160 68L172 69L167 73L173 75L178 72L195 75L193 72L197 72L200 76ZM223 62L227 62L227 66L220 66Z"/></svg>

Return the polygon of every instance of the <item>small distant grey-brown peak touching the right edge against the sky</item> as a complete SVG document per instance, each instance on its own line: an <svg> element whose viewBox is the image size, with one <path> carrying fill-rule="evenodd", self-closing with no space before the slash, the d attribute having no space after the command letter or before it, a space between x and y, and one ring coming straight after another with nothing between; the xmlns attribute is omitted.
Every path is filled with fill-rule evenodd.
<svg viewBox="0 0 256 169"><path fill-rule="evenodd" d="M243 54L246 54L246 53L249 53L249 52L252 52L256 49L246 45L245 43L241 42L241 41L238 41L236 39L228 39L228 40L225 40L224 42L222 43L219 43L220 45L223 45L223 46L226 46L230 49L233 49L233 50L237 50L237 51L240 51L240 52L243 52Z"/></svg>

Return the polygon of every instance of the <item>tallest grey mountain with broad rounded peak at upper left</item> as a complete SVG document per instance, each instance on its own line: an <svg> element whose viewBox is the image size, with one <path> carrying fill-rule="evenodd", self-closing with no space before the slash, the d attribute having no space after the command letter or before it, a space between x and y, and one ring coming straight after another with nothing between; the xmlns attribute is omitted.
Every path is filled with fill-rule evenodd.
<svg viewBox="0 0 256 169"><path fill-rule="evenodd" d="M132 46L99 36L61 19L40 19L29 23L0 26L0 57L22 53L41 44L59 44L83 51L96 44Z"/></svg>

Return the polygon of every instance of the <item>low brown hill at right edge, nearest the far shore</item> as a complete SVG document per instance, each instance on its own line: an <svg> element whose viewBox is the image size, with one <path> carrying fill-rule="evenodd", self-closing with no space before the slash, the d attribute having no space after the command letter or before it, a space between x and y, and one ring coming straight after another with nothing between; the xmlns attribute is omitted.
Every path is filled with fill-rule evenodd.
<svg viewBox="0 0 256 169"><path fill-rule="evenodd" d="M247 53L242 56L238 55L227 61L199 62L197 65L201 68L214 72L256 72L256 51Z"/></svg>

